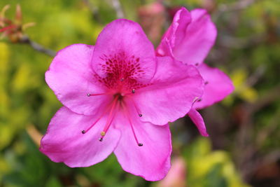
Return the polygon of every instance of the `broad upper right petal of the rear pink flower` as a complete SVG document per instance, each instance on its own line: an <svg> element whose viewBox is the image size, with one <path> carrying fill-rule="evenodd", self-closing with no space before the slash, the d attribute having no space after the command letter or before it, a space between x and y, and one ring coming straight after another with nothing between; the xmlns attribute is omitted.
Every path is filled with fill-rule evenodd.
<svg viewBox="0 0 280 187"><path fill-rule="evenodd" d="M174 57L186 64L201 64L215 43L217 29L206 10L195 9L190 15L192 22L183 41L174 47Z"/></svg>

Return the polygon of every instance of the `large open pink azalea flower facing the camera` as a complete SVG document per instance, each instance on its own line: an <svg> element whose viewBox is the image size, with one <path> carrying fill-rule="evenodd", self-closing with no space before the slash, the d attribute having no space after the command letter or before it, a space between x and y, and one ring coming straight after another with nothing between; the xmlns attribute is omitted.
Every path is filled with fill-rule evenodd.
<svg viewBox="0 0 280 187"><path fill-rule="evenodd" d="M123 169L149 181L170 168L169 121L190 111L203 93L192 65L156 57L141 27L115 20L95 46L60 50L45 81L62 106L40 150L54 162L88 167L112 152Z"/></svg>

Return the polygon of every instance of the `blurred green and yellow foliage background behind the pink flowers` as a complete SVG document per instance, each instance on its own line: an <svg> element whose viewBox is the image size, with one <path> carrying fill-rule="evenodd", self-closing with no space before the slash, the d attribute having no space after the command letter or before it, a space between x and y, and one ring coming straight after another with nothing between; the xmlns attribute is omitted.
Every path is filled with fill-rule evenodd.
<svg viewBox="0 0 280 187"><path fill-rule="evenodd" d="M191 187L248 186L243 181L280 186L280 1L241 1L248 5L167 0L162 1L165 13L145 13L144 8L140 14L140 7L155 1L120 0L125 18L144 26L155 19L144 27L155 44L160 37L153 36L162 34L178 6L207 8L218 27L207 63L230 75L235 92L202 111L209 139L196 139L188 118L172 124L174 155L186 160ZM55 51L73 43L94 44L102 28L116 19L111 0L1 0L0 9L6 4L10 19L20 4L23 21L36 22L25 34ZM51 60L26 43L0 40L0 186L160 186L124 172L114 155L92 167L69 168L38 151L27 126L43 134L62 106L44 80Z"/></svg>

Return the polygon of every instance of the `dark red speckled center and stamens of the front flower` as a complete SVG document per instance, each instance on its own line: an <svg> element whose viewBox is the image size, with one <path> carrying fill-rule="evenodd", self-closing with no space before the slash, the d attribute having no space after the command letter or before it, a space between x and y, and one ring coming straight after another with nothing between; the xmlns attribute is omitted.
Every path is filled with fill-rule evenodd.
<svg viewBox="0 0 280 187"><path fill-rule="evenodd" d="M106 73L106 77L102 78L97 74L95 74L94 77L97 81L102 83L102 85L108 88L108 92L87 93L87 97L112 95L113 101L106 107L102 115L87 128L87 130L82 130L82 133L85 134L88 132L107 113L108 118L103 131L100 133L101 137L99 137L99 141L103 141L109 127L113 123L116 113L120 111L121 108L125 118L128 120L137 145L143 146L143 144L137 139L137 133L134 130L132 119L130 117L130 111L127 109L127 102L125 102L125 98L130 99L130 103L132 103L134 109L137 111L138 116L143 116L139 107L132 99L132 95L137 92L137 89L147 86L147 84L139 83L137 81L137 78L141 78L145 75L145 71L140 67L139 58L134 57L134 55L129 57L125 55L125 53L117 53L110 56L103 55L100 58L104 60L104 64L100 65L102 67L102 71Z"/></svg>

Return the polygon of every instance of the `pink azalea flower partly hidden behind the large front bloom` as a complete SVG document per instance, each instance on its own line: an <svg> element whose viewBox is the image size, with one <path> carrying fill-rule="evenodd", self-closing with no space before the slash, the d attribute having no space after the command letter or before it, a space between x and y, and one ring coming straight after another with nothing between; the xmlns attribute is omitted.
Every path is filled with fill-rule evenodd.
<svg viewBox="0 0 280 187"><path fill-rule="evenodd" d="M217 29L206 10L195 9L189 12L186 8L181 8L156 50L158 56L172 56L183 64L197 66L200 71L204 78L204 94L197 99L188 116L206 137L208 134L204 120L197 109L220 102L234 90L232 81L223 71L203 63L216 36Z"/></svg>

